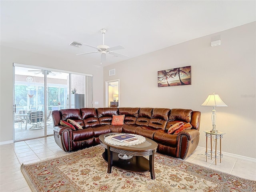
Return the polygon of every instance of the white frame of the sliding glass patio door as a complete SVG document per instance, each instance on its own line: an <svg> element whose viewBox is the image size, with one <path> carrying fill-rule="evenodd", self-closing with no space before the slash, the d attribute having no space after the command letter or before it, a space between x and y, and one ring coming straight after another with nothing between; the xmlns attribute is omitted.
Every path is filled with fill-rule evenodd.
<svg viewBox="0 0 256 192"><path fill-rule="evenodd" d="M15 138L15 128L14 128L14 117L15 117L15 112L16 112L16 105L15 105L15 67L24 67L24 68L34 68L34 69L38 69L38 70L44 70L44 74L47 74L46 71L50 70L50 71L54 71L54 72L63 72L63 73L68 73L69 74L69 78L68 78L68 94L71 94L71 76L72 74L77 74L77 75L82 75L82 76L90 76L92 77L92 84L93 84L93 75L92 74L85 74L85 73L79 73L79 72L72 72L72 71L66 71L66 70L59 70L59 69L53 69L53 68L45 68L45 67L40 67L40 66L32 66L32 65L26 65L26 64L18 64L18 63L13 63L13 106L14 106L14 110L13 110L13 140L14 141L20 141L20 140L16 140ZM86 85L84 85L86 86ZM91 87L90 90L91 94L92 94L92 98L93 98L93 86ZM48 106L48 84L47 84L47 76L44 75L44 116L46 117L47 115L47 106ZM69 100L70 102L70 100ZM69 103L70 106L71 103ZM65 106L65 105L64 105ZM92 107L93 107L93 101L92 101ZM50 136L47 135L47 124L46 124L46 120L47 118L44 118L44 124L46 126L44 126L44 136L38 136L38 137L33 137L33 138L41 138L41 137L46 137L46 136ZM21 140L26 140L26 139L33 139L33 138L25 138L25 139L21 139Z"/></svg>

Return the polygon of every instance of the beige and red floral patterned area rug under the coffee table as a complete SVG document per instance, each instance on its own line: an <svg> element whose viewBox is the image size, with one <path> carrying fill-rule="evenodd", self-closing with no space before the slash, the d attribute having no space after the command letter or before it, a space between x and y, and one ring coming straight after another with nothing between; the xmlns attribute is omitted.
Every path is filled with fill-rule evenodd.
<svg viewBox="0 0 256 192"><path fill-rule="evenodd" d="M155 176L112 167L101 145L24 165L33 192L255 192L256 181L239 178L176 158L155 154Z"/></svg>

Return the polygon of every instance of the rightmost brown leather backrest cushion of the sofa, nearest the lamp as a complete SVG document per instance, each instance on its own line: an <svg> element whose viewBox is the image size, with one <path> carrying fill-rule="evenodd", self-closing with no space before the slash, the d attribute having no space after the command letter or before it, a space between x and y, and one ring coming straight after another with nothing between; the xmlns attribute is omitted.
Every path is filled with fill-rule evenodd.
<svg viewBox="0 0 256 192"><path fill-rule="evenodd" d="M189 123L191 120L192 112L193 111L190 109L172 109L169 116L169 121L178 120Z"/></svg>

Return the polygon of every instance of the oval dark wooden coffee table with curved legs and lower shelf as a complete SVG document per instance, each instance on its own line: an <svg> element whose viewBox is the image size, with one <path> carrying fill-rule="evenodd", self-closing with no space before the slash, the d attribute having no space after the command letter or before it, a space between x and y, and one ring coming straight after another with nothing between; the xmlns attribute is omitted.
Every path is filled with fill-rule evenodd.
<svg viewBox="0 0 256 192"><path fill-rule="evenodd" d="M155 179L154 172L154 154L158 144L153 140L146 138L141 144L131 146L120 146L108 144L104 141L106 136L120 133L106 133L99 136L100 144L105 148L102 157L108 162L108 173L111 173L112 166L131 172L148 172L150 171L151 179ZM131 159L123 160L118 154L132 155ZM147 160L143 156L149 156Z"/></svg>

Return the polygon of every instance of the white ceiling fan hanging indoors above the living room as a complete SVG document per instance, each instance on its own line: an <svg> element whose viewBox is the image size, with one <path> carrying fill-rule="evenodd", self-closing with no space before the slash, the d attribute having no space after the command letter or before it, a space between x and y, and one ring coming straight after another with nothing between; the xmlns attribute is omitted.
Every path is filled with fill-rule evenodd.
<svg viewBox="0 0 256 192"><path fill-rule="evenodd" d="M76 42L76 41L73 41L72 43L70 43L71 46L80 47L82 45L86 45L86 46L95 48L97 50L97 51L93 51L93 52L80 53L80 54L76 54L76 55L83 55L83 54L91 54L91 53L100 52L100 64L102 64L103 61L106 61L106 54L107 53L110 54L110 55L113 55L115 57L118 57L118 56L128 57L127 55L123 55L123 54L120 54L120 53L113 52L114 50L124 49L123 46L119 45L119 46L109 47L109 46L105 45L104 44L104 34L107 32L107 30L106 29L101 29L100 32L103 34L103 45L98 45L97 47L95 47L95 46L92 46L92 45L88 45L88 44L84 44L84 43L80 43L80 42Z"/></svg>

